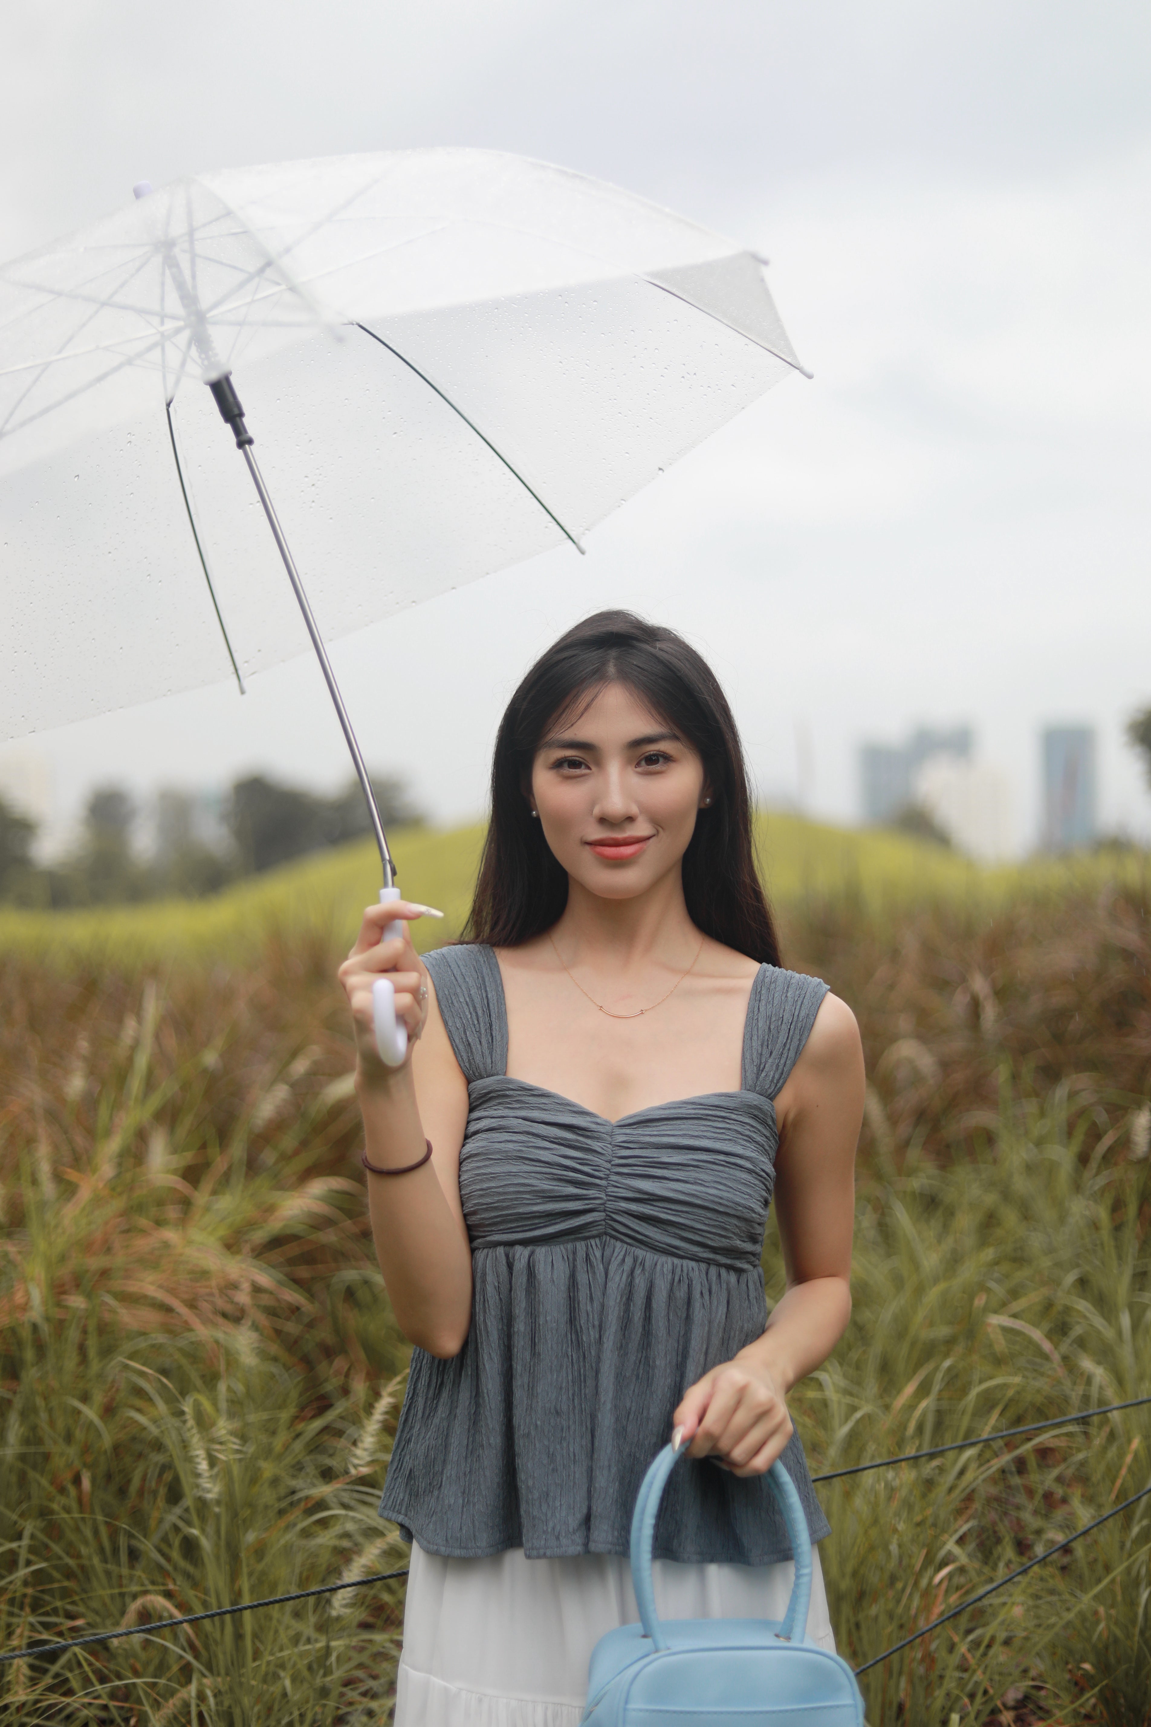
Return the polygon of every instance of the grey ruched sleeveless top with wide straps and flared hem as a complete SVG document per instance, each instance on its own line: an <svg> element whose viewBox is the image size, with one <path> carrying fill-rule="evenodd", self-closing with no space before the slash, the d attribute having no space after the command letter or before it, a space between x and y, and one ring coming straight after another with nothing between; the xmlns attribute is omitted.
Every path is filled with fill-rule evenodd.
<svg viewBox="0 0 1151 1727"><path fill-rule="evenodd" d="M611 1123L507 1078L492 948L440 948L426 964L468 1079L459 1192L475 1295L459 1356L412 1351L380 1513L454 1558L626 1554L635 1492L680 1397L766 1325L773 1098L827 984L761 965L742 1090ZM783 1463L820 1540L828 1523L799 1435ZM766 1565L790 1546L766 1477L695 1463L668 1482L656 1553Z"/></svg>

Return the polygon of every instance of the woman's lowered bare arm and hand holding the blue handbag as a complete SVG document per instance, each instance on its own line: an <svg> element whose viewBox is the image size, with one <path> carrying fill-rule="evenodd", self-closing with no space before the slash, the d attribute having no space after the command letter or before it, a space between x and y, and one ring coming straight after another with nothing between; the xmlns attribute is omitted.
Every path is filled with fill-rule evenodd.
<svg viewBox="0 0 1151 1727"><path fill-rule="evenodd" d="M787 1292L763 1337L704 1373L673 1416L692 1458L713 1456L733 1475L771 1468L792 1437L787 1394L847 1330L863 1088L856 1017L827 995L775 1100L775 1214Z"/></svg>

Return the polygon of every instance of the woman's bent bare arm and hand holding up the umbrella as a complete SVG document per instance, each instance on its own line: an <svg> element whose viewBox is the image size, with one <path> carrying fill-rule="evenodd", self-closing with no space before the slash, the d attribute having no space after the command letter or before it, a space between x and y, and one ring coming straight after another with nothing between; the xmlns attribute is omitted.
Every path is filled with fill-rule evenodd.
<svg viewBox="0 0 1151 1727"><path fill-rule="evenodd" d="M411 1174L366 1173L376 1257L404 1337L431 1356L457 1356L471 1323L471 1245L459 1200L459 1148L468 1123L468 1081L452 1052L407 931L380 941L383 924L409 922L419 908L406 901L373 905L340 967L355 1029L355 1093L364 1117L369 1164L402 1169L435 1147L431 1161ZM371 986L387 976L395 986L397 1017L409 1034L402 1067L385 1067L376 1053ZM428 986L426 1007L419 984Z"/></svg>

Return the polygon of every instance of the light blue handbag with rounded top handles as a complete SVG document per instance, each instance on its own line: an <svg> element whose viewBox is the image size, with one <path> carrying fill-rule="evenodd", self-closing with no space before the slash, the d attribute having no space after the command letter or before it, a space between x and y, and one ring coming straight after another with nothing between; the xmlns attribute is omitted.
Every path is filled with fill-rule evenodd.
<svg viewBox="0 0 1151 1727"><path fill-rule="evenodd" d="M621 1625L592 1649L583 1720L595 1727L863 1727L856 1675L808 1642L811 1535L782 1463L768 1480L796 1554L796 1585L777 1620L668 1620L656 1615L652 1537L678 1458L659 1452L632 1518L632 1584L642 1625Z"/></svg>

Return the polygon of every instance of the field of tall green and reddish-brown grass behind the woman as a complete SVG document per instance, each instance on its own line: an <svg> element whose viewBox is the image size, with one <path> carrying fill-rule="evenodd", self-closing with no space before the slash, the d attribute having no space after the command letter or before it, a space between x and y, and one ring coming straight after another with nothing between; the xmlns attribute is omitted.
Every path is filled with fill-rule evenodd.
<svg viewBox="0 0 1151 1727"><path fill-rule="evenodd" d="M397 846L454 924L478 838ZM785 958L856 1007L870 1071L856 1311L794 1399L813 1468L1151 1390L1151 881L766 839ZM0 922L3 1649L406 1563L374 1515L406 1347L331 981L371 896L352 848ZM771 1235L764 1266L778 1288ZM1148 1483L1148 1409L828 1483L840 1648ZM3 1667L0 1724L385 1722L402 1587ZM866 1673L868 1720L1146 1727L1149 1601L1151 1499Z"/></svg>

